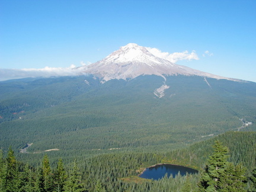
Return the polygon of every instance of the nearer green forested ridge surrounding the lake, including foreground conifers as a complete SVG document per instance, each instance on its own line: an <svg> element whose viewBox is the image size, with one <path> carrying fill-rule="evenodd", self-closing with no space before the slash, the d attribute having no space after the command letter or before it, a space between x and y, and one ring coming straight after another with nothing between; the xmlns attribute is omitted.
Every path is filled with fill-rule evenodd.
<svg viewBox="0 0 256 192"><path fill-rule="evenodd" d="M220 144L220 141L223 144ZM49 155L50 153L44 153L41 162L31 166L17 161L11 148L6 158L1 152L1 190L207 191L207 187L211 186L206 184L208 177L205 175L211 175L211 169L207 167L216 167L216 162L219 176L216 176L216 173L209 176L218 178L218 183L213 184L220 186L216 191L256 190L255 132L228 132L210 140L194 143L188 148L169 152L105 153L86 159L78 157L66 163L63 163L62 159L50 162ZM199 169L200 174L164 177L158 181L137 176L143 168L161 163L186 165ZM236 185L233 185L234 182Z"/></svg>

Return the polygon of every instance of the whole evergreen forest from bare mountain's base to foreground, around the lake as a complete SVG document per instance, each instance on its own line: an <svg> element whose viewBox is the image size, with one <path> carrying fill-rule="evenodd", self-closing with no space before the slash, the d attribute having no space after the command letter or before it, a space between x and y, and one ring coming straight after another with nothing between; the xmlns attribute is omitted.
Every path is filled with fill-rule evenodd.
<svg viewBox="0 0 256 192"><path fill-rule="evenodd" d="M159 76L104 84L93 76L0 82L1 190L198 191L212 186L202 175L210 177L206 168L219 140L227 147L220 172L231 177L217 180L232 180L240 170L239 190L255 191L256 85L207 82L169 76L162 98L153 94ZM137 176L156 164L200 174Z"/></svg>

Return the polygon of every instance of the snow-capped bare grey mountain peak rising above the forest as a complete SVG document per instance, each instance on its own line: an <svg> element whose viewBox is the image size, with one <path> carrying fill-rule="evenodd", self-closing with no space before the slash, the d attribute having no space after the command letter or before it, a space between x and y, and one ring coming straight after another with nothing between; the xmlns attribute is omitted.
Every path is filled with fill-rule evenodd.
<svg viewBox="0 0 256 192"><path fill-rule="evenodd" d="M91 73L101 78L102 82L110 79L136 78L140 75L158 75L165 79L168 75L197 75L215 79L238 79L225 78L186 66L177 65L166 59L161 59L150 53L145 47L135 43L129 43L111 53L105 59L89 66L79 68L83 73Z"/></svg>

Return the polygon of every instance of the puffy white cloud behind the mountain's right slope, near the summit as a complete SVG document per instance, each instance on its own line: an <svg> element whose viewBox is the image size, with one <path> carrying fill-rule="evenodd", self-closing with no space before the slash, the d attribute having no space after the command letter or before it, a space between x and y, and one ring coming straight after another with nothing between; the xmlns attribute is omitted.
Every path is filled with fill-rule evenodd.
<svg viewBox="0 0 256 192"><path fill-rule="evenodd" d="M193 50L191 53L189 53L187 50L185 50L184 52L168 53L161 52L161 50L151 47L146 47L146 49L153 55L162 59L167 59L172 63L176 63L178 60L199 60L199 57L197 56L195 50Z"/></svg>

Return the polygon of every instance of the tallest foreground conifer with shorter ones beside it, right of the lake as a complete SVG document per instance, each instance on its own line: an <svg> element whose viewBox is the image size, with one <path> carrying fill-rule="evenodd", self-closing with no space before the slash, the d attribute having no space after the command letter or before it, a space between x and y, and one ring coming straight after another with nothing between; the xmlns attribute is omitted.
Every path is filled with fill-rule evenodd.
<svg viewBox="0 0 256 192"><path fill-rule="evenodd" d="M242 165L236 167L228 162L228 148L218 140L213 146L214 152L207 160L206 168L201 174L199 191L245 191L245 168Z"/></svg>

